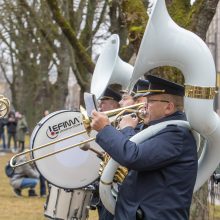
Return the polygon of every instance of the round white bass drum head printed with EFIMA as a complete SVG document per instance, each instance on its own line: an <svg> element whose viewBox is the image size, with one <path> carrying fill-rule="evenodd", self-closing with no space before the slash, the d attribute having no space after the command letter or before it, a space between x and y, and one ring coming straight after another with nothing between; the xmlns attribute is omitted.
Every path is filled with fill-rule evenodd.
<svg viewBox="0 0 220 220"><path fill-rule="evenodd" d="M58 111L49 114L38 123L32 133L31 147L35 148L83 130L85 128L80 112ZM90 136L84 133L36 150L32 156L38 158L95 136L95 131ZM89 144L92 148L103 151L95 141ZM35 161L35 164L39 172L53 185L64 189L77 189L91 184L99 177L100 162L101 159L96 153L77 146Z"/></svg>

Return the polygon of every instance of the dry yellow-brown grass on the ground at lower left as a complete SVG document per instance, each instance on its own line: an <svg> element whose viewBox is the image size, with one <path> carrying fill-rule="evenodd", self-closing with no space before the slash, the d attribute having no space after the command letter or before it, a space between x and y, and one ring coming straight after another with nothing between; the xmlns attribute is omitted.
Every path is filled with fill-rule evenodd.
<svg viewBox="0 0 220 220"><path fill-rule="evenodd" d="M4 173L6 162L13 156L11 153L0 153L0 220L44 220L44 204L46 198L27 196L23 190L23 197L16 197ZM36 189L39 194L39 186ZM97 220L96 211L91 211L89 220Z"/></svg>

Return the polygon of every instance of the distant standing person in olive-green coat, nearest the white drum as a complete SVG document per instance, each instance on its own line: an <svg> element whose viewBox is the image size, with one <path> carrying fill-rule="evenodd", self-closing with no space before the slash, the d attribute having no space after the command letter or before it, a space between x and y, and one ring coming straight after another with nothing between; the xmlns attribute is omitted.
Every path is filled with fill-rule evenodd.
<svg viewBox="0 0 220 220"><path fill-rule="evenodd" d="M16 112L15 117L17 119L16 139L18 143L18 152L23 152L25 148L25 134L28 131L27 121L20 112Z"/></svg>

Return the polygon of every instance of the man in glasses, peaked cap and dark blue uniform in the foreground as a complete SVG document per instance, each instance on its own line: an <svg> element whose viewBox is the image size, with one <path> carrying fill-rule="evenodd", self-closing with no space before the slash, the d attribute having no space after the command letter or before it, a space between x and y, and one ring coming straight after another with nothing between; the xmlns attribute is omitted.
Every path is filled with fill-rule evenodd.
<svg viewBox="0 0 220 220"><path fill-rule="evenodd" d="M145 107L148 126L186 120L184 87L149 75ZM136 122L136 123L135 123ZM127 120L132 129L137 120ZM189 128L170 123L140 144L128 140L110 125L104 113L93 111L91 126L97 143L118 163L129 169L120 187L115 220L180 220L189 218L198 161L195 139Z"/></svg>

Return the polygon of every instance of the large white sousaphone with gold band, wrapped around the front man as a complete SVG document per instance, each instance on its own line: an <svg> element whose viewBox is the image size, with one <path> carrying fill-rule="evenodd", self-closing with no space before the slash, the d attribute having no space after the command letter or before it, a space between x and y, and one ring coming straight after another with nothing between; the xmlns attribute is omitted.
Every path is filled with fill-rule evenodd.
<svg viewBox="0 0 220 220"><path fill-rule="evenodd" d="M213 110L216 71L211 52L194 33L179 27L169 16L165 0L156 0L137 55L129 89L140 76L159 66L174 66L185 77L184 106L190 127L200 133L207 145L199 158L194 191L210 177L220 162L220 120ZM131 138L140 143L166 126L151 126ZM182 125L182 126L188 126ZM110 183L118 163L113 159L105 167L100 181L100 197L114 214L115 199Z"/></svg>

